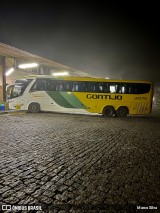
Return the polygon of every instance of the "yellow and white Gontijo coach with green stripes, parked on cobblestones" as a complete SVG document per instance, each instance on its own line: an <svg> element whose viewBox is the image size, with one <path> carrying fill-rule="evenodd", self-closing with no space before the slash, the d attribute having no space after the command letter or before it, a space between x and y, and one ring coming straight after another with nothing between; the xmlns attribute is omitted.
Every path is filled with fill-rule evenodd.
<svg viewBox="0 0 160 213"><path fill-rule="evenodd" d="M7 87L9 109L29 112L98 113L106 117L148 115L153 83L78 76L34 76Z"/></svg>

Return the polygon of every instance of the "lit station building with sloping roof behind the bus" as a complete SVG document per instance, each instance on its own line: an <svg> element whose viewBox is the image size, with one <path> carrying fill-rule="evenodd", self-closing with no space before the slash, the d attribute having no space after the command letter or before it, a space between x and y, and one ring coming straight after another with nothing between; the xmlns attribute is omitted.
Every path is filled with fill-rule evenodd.
<svg viewBox="0 0 160 213"><path fill-rule="evenodd" d="M32 63L38 66L31 68L19 67L20 65ZM11 72L6 76L8 71ZM16 79L24 78L27 75L56 75L58 73L90 76L87 73L0 42L0 103L6 100L6 85L14 83Z"/></svg>

